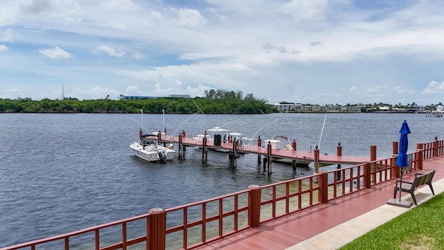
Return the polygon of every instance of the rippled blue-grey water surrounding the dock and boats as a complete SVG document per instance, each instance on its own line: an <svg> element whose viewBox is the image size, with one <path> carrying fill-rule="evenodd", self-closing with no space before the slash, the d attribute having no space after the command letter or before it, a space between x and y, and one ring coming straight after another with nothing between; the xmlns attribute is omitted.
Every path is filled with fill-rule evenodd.
<svg viewBox="0 0 444 250"><path fill-rule="evenodd" d="M273 164L262 172L257 156L241 156L230 167L224 153L188 148L185 160L147 163L133 155L141 115L0 114L0 247L45 238L222 194L245 190L312 172L296 172ZM319 144L321 153L391 156L393 141L407 119L409 152L417 142L444 138L444 119L423 114L273 114L273 115L144 115L144 132L187 136L221 126L242 136L267 140L285 135L307 150ZM321 137L322 132L322 137ZM244 142L248 143L248 141ZM176 147L177 149L177 147Z"/></svg>

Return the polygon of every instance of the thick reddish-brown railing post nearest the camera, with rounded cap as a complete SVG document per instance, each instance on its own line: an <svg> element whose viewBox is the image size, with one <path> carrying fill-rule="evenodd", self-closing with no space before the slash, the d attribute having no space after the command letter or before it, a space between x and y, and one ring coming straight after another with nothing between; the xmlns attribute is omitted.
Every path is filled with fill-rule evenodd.
<svg viewBox="0 0 444 250"><path fill-rule="evenodd" d="M146 217L146 249L165 249L167 213L163 208L151 208Z"/></svg>

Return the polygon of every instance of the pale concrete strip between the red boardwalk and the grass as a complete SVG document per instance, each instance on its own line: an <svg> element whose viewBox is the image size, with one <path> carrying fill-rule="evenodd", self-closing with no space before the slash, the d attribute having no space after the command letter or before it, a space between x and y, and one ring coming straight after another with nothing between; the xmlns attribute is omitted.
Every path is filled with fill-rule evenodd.
<svg viewBox="0 0 444 250"><path fill-rule="evenodd" d="M432 183L435 194L441 194L444 192L444 179L434 181ZM403 193L404 194L404 193ZM430 191L428 185L416 190L415 192L418 206L432 199L434 197ZM399 199L399 198L398 198ZM410 194L401 197L404 201L412 201ZM413 202L413 201L412 201ZM316 249L316 250L332 250L343 247L348 242L352 242L359 236L364 235L378 226L390 221L391 219L407 212L408 210L415 208L416 205L410 208L402 208L401 206L383 205L379 208L371 210L368 213L364 213L348 222L344 222L334 228L320 233L308 240L304 240L293 247L287 248L288 250L296 249Z"/></svg>

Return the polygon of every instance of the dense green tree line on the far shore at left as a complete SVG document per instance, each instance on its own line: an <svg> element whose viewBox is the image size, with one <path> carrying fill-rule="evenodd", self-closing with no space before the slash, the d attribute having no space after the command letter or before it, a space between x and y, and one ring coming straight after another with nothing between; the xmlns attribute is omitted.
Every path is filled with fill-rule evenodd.
<svg viewBox="0 0 444 250"><path fill-rule="evenodd" d="M241 91L205 90L205 97L158 97L155 99L96 99L78 100L31 98L0 99L0 113L205 113L205 114L258 114L277 112L264 99L253 94L243 96Z"/></svg>

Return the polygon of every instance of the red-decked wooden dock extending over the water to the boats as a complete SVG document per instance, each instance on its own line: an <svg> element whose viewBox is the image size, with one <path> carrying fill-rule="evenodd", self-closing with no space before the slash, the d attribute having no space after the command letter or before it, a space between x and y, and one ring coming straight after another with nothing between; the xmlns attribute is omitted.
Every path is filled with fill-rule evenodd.
<svg viewBox="0 0 444 250"><path fill-rule="evenodd" d="M179 147L201 147L204 148L204 139L200 138L187 138L179 136L162 135L162 142L165 143L176 143ZM219 144L219 143L218 143ZM232 153L255 153L258 156L265 156L274 160L283 160L288 163L296 163L298 165L308 165L309 163L315 162L315 152L316 149L308 151L296 151L294 149L271 149L268 152L267 145L262 145L259 147L257 144L242 144L236 146L236 142L221 142L220 145L215 145L212 138L207 138L205 143L206 149L212 149L217 151L226 151ZM339 146L341 147L341 146ZM182 149L179 149L179 152ZM370 153L371 154L371 153ZM376 149L375 149L376 154ZM320 165L333 165L333 164L349 164L355 165L360 163L370 162L372 160L378 160L376 156L338 156L338 155L318 155L318 164Z"/></svg>

